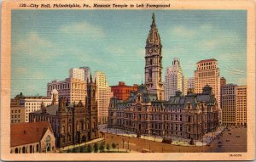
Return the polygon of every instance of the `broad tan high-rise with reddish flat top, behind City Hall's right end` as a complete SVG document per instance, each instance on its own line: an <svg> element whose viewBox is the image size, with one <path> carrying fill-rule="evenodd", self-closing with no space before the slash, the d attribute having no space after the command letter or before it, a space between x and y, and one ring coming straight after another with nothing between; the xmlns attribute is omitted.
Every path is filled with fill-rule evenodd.
<svg viewBox="0 0 256 162"><path fill-rule="evenodd" d="M212 92L220 107L220 83L218 61L216 59L201 60L196 64L195 93L201 93L206 85L212 87Z"/></svg>

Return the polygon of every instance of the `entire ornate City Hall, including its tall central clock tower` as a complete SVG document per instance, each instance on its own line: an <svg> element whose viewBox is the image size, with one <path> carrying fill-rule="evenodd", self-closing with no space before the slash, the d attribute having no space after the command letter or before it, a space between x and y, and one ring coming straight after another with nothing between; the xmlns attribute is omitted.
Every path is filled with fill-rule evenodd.
<svg viewBox="0 0 256 162"><path fill-rule="evenodd" d="M167 100L162 74L162 45L154 14L145 47L145 84L131 92L126 101L111 98L108 127L163 137L201 139L218 127L218 101L208 85L201 93L182 96L181 92Z"/></svg>

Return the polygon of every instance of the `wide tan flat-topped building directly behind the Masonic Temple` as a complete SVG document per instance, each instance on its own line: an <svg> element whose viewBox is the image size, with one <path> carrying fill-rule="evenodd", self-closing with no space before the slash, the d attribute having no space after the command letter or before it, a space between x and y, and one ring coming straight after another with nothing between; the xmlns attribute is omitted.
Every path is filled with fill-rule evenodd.
<svg viewBox="0 0 256 162"><path fill-rule="evenodd" d="M67 98L70 103L85 103L86 81L76 78L67 78L65 81L51 81L47 84L47 96L57 91L59 98Z"/></svg>

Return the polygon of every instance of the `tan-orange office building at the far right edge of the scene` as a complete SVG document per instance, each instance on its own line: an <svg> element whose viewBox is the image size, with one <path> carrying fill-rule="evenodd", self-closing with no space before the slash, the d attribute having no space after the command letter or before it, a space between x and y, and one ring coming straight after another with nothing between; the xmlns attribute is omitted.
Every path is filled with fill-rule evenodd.
<svg viewBox="0 0 256 162"><path fill-rule="evenodd" d="M247 86L236 87L236 125L247 125Z"/></svg>

